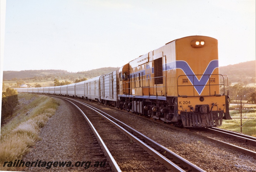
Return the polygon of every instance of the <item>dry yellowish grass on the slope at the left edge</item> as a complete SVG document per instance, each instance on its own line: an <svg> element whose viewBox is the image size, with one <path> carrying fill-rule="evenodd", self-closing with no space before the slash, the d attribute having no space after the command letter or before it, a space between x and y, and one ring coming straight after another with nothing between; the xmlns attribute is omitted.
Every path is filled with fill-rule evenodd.
<svg viewBox="0 0 256 172"><path fill-rule="evenodd" d="M11 170L2 169L4 161L21 158L41 139L40 130L60 105L55 99L46 96L21 94L19 97L34 100L18 109L16 116L1 128L0 170Z"/></svg>

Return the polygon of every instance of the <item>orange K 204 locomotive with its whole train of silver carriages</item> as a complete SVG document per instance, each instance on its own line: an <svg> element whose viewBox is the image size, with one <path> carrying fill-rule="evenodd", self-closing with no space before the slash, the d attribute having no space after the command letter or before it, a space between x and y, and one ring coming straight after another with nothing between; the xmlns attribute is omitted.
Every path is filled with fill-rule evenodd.
<svg viewBox="0 0 256 172"><path fill-rule="evenodd" d="M52 88L32 92L96 100L183 127L220 126L231 119L228 77L219 74L218 41L207 36L176 39L117 71Z"/></svg>

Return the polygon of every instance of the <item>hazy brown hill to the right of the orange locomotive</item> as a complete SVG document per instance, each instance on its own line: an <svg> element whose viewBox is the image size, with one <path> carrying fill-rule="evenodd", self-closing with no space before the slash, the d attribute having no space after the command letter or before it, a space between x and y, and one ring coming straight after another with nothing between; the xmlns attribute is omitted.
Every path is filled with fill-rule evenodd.
<svg viewBox="0 0 256 172"><path fill-rule="evenodd" d="M255 66L256 60L246 61L235 65L220 66L220 74L227 74L229 83L256 83Z"/></svg>

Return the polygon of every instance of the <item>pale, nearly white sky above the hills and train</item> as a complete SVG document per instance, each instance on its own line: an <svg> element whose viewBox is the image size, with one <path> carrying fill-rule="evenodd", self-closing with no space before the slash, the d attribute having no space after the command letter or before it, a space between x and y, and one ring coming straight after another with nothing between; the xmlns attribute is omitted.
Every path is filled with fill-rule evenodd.
<svg viewBox="0 0 256 172"><path fill-rule="evenodd" d="M6 0L4 33L4 71L121 67L190 35L227 66L255 60L255 0Z"/></svg>

